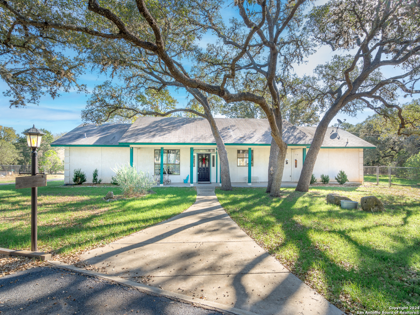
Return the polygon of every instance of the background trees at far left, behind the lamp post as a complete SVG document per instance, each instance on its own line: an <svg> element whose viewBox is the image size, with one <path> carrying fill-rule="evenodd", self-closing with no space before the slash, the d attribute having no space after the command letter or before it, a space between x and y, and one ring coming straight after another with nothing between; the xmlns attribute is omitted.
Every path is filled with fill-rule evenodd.
<svg viewBox="0 0 420 315"><path fill-rule="evenodd" d="M64 171L64 148L51 147L51 142L57 140L65 132L53 134L46 129L40 129L42 136L38 152L39 171L45 173L60 173ZM26 136L20 136L12 127L0 126L0 165L30 165L31 149L26 142Z"/></svg>

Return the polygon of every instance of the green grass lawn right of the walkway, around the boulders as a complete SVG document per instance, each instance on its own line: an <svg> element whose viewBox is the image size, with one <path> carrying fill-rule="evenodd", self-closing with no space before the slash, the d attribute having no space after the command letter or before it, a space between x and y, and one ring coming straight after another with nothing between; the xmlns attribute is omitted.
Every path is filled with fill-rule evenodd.
<svg viewBox="0 0 420 315"><path fill-rule="evenodd" d="M326 194L375 195L385 213L327 205ZM420 190L411 187L216 189L232 219L295 275L347 310L420 305ZM344 305L342 305L344 304Z"/></svg>

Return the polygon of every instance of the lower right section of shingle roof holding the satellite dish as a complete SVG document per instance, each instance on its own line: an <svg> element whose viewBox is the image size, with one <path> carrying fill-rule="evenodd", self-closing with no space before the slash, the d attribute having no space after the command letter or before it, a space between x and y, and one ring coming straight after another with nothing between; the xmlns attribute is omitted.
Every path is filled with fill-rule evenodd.
<svg viewBox="0 0 420 315"><path fill-rule="evenodd" d="M305 134L310 136L313 139L315 134L315 127L298 127ZM322 142L322 147L375 147L373 144L355 136L354 134L339 129L337 132L337 127L328 127L327 132L325 132L324 141ZM312 143L312 139L311 142Z"/></svg>

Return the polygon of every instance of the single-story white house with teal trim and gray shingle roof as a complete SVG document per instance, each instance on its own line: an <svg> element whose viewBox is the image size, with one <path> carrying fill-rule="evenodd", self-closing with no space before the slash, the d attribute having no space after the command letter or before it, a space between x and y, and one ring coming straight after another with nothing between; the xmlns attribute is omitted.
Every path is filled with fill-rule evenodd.
<svg viewBox="0 0 420 315"><path fill-rule="evenodd" d="M226 145L231 181L251 184L268 181L270 126L266 119L215 118ZM283 139L288 144L284 182L299 180L306 150L316 127L294 126L283 121ZM115 165L131 164L137 170L160 175L165 169L172 183L187 176L197 182L220 182L220 160L215 139L204 118L139 117L133 124L80 125L51 144L64 147L65 183L81 168L92 182L92 173L104 183L111 181ZM314 174L329 175L331 181L344 170L350 182L363 182L363 149L373 144L344 130L328 128L318 154ZM249 163L249 150L251 162ZM165 171L163 171L165 173Z"/></svg>

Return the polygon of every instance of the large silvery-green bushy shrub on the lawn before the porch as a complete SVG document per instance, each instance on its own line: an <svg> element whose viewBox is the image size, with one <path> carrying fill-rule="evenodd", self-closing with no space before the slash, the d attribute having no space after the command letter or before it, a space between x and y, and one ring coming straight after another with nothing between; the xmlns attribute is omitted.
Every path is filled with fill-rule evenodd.
<svg viewBox="0 0 420 315"><path fill-rule="evenodd" d="M123 194L126 196L136 193L144 194L156 185L155 179L153 176L150 176L149 172L137 172L134 165L126 166L124 164L121 167L115 165L113 171L115 172L113 178L115 178L115 181L120 185Z"/></svg>

